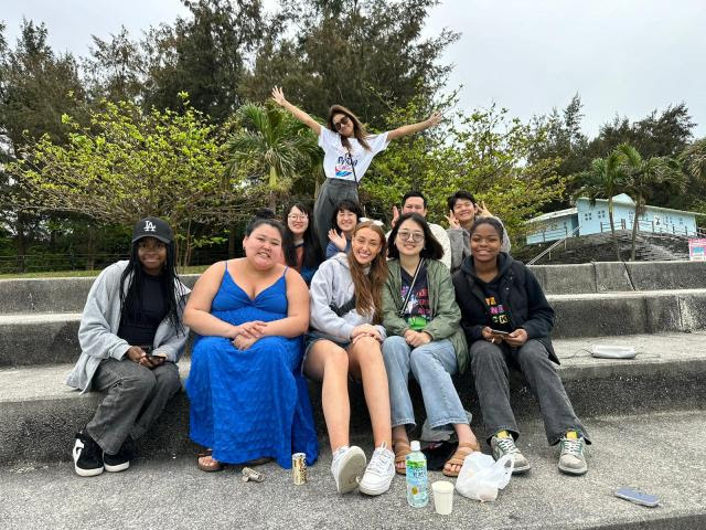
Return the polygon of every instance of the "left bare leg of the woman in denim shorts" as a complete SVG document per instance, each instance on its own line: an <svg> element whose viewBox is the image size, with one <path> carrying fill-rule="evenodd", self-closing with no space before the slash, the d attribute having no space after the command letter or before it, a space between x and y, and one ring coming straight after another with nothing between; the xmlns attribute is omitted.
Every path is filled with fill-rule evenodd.
<svg viewBox="0 0 706 530"><path fill-rule="evenodd" d="M327 422L331 452L349 445L351 404L349 402L349 354L330 340L313 343L307 361L304 374L318 381L321 386L321 405ZM385 386L387 389L387 386Z"/></svg>

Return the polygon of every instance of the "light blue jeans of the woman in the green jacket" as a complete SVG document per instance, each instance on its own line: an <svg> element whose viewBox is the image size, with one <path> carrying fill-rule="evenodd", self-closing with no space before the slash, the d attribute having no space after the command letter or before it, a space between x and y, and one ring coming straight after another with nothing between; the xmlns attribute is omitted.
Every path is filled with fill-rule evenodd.
<svg viewBox="0 0 706 530"><path fill-rule="evenodd" d="M421 388L431 428L457 423L468 425L463 405L451 381L458 364L450 340L435 340L413 349L403 337L387 337L383 342L383 359L387 370L393 427L416 425L407 388L410 370Z"/></svg>

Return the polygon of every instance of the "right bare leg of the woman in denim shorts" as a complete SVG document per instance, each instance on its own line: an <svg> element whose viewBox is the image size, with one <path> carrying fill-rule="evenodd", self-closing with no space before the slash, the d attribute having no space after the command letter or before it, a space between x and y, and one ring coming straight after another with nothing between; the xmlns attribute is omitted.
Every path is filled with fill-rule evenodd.
<svg viewBox="0 0 706 530"><path fill-rule="evenodd" d="M365 403L373 424L375 447L383 442L392 449L392 420L389 416L389 389L387 372L379 342L372 337L363 337L349 347L351 373L363 380Z"/></svg>

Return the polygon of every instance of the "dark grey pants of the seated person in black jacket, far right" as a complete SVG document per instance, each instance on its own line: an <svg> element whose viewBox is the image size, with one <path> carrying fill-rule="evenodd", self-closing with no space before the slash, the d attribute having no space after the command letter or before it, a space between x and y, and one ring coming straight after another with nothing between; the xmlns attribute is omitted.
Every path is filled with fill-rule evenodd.
<svg viewBox="0 0 706 530"><path fill-rule="evenodd" d="M490 436L509 431L516 439L520 430L510 406L509 367L518 368L539 403L544 430L549 445L555 445L567 431L577 431L590 444L586 428L576 417L549 353L538 340L528 340L521 348L500 347L485 340L471 344L471 370L475 391Z"/></svg>

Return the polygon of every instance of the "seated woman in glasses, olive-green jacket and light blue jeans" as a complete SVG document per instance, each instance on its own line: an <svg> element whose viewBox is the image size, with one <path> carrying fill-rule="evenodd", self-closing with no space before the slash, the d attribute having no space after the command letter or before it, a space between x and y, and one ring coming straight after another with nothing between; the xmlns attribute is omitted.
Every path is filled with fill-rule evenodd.
<svg viewBox="0 0 706 530"><path fill-rule="evenodd" d="M451 427L459 445L446 463L443 474L458 477L463 459L480 451L451 375L468 365L468 347L459 327L461 310L456 303L451 275L440 262L443 251L429 224L418 213L405 213L388 239L389 274L383 289L383 359L389 386L395 470L405 474L405 457L411 453L407 427L415 413L407 381L419 383L429 426Z"/></svg>

